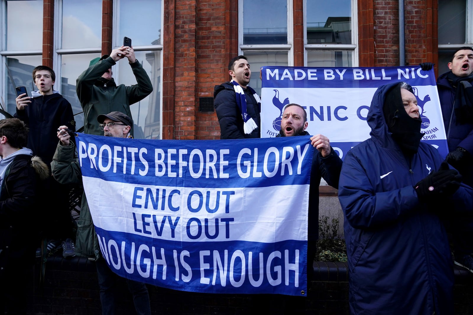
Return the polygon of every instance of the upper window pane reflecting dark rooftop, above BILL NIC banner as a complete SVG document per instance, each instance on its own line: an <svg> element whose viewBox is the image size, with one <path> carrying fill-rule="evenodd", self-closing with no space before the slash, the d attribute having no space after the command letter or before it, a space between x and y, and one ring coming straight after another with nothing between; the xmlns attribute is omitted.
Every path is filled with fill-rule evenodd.
<svg viewBox="0 0 473 315"><path fill-rule="evenodd" d="M307 0L307 43L351 44L351 0Z"/></svg>

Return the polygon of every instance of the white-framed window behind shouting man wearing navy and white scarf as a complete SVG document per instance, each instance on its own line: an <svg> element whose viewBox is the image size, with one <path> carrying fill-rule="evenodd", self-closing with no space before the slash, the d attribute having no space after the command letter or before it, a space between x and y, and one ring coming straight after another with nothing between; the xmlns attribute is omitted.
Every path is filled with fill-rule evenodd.
<svg viewBox="0 0 473 315"><path fill-rule="evenodd" d="M261 95L260 68L292 66L292 0L238 1L239 54L248 58L249 85Z"/></svg>

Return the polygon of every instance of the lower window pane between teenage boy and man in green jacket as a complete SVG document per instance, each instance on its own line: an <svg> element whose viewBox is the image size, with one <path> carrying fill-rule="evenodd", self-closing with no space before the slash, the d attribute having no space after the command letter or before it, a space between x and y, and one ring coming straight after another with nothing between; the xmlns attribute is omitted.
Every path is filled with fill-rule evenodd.
<svg viewBox="0 0 473 315"><path fill-rule="evenodd" d="M61 82L56 77L56 86L61 84L61 95L70 102L76 130L84 126L84 113L76 94L76 79L88 68L90 60L100 57L99 53L61 55Z"/></svg>

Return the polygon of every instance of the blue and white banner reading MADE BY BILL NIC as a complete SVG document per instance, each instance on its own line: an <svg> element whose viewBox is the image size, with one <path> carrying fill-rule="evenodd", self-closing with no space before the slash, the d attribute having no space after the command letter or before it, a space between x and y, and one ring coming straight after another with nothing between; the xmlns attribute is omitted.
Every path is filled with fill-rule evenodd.
<svg viewBox="0 0 473 315"><path fill-rule="evenodd" d="M262 79L262 137L276 136L284 106L297 103L306 109L307 132L327 136L343 158L369 138L366 117L377 87L404 81L414 88L425 133L422 141L438 148L443 157L448 153L433 69L264 67Z"/></svg>

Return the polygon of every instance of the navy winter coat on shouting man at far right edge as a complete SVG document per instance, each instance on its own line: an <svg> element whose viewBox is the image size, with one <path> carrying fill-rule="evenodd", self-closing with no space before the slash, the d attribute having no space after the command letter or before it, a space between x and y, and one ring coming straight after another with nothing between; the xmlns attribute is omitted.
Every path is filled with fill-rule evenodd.
<svg viewBox="0 0 473 315"><path fill-rule="evenodd" d="M448 72L438 77L437 89L445 133L447 134L448 151L461 146L473 154L473 121L469 124L457 124L455 111L453 110L456 89L448 82L447 75ZM470 83L473 84L473 80Z"/></svg>

